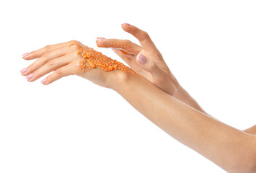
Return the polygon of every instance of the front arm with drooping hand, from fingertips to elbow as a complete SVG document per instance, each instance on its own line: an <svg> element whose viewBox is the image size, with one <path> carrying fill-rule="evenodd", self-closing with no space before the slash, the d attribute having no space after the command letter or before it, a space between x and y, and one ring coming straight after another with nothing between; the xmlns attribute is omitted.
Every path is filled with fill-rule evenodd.
<svg viewBox="0 0 256 173"><path fill-rule="evenodd" d="M112 88L170 136L198 151L220 167L229 172L255 172L255 136L231 128L185 105L142 76L119 70L103 71L100 67L105 69L114 61L108 61L108 58L89 48L81 53L81 48L74 43L76 42L49 45L26 53L23 56L25 60L37 61L24 68L21 71L22 75L27 76L28 81L35 81L54 71L42 81L48 85L63 76L76 74L100 86ZM87 61L95 55L97 57L94 58L98 58L99 61L104 59L102 62L108 63L101 64L104 66L95 66L97 64L93 61ZM87 67L94 67L86 72L81 71L77 65L81 65L84 60L88 63Z"/></svg>

